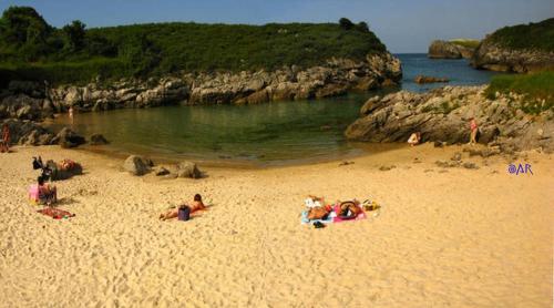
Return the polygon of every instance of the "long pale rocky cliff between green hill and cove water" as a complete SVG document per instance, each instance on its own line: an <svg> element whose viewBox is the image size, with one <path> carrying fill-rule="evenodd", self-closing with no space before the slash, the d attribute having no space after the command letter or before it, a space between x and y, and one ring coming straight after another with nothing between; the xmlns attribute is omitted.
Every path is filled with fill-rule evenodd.
<svg viewBox="0 0 554 308"><path fill-rule="evenodd" d="M273 72L182 73L150 80L122 80L84 86L12 81L0 94L0 119L39 120L69 106L79 111L146 107L164 104L256 104L277 100L306 100L368 91L396 84L400 61L390 53L366 61L331 59L320 66L286 66Z"/></svg>

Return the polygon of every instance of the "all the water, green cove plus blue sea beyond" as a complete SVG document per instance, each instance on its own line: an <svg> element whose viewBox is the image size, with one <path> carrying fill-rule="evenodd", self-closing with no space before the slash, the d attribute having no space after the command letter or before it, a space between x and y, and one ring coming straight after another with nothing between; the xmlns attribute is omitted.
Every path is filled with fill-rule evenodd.
<svg viewBox="0 0 554 308"><path fill-rule="evenodd" d="M403 89L427 91L413 83L417 74L447 76L451 84L486 83L491 73L475 71L465 60L429 60L401 54ZM398 90L398 89L397 89ZM343 131L363 102L378 93L259 105L167 106L76 114L73 129L85 136L103 134L111 144L95 147L110 154L146 154L212 164L283 165L348 157L389 148L349 143ZM382 94L382 93L381 93ZM54 126L63 125L66 115Z"/></svg>

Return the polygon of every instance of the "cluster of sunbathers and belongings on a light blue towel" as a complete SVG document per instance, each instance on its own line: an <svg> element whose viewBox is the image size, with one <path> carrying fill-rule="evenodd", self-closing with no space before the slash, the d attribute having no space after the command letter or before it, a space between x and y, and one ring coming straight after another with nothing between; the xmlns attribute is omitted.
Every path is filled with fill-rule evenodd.
<svg viewBox="0 0 554 308"><path fill-rule="evenodd" d="M324 227L324 224L342 223L366 219L367 211L380 209L375 201L366 199L360 203L357 199L325 204L322 197L309 196L305 201L306 211L302 212L301 224L314 224L316 228Z"/></svg>

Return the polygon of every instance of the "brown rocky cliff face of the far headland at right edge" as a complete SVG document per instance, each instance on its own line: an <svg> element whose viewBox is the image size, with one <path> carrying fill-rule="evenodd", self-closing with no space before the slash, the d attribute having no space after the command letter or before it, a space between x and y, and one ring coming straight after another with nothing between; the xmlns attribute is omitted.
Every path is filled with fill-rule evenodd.
<svg viewBox="0 0 554 308"><path fill-rule="evenodd" d="M485 39L473 54L471 65L475 69L515 73L554 70L554 52L515 50Z"/></svg>

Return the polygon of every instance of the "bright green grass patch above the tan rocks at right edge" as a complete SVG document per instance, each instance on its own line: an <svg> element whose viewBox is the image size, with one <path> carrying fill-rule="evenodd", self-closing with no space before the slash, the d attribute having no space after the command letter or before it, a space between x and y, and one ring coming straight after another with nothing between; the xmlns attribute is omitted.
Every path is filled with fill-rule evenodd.
<svg viewBox="0 0 554 308"><path fill-rule="evenodd" d="M494 99L496 92L526 95L522 110L529 114L538 114L554 107L554 71L496 75L492 79L485 95L489 99Z"/></svg>

